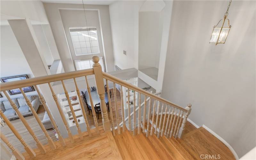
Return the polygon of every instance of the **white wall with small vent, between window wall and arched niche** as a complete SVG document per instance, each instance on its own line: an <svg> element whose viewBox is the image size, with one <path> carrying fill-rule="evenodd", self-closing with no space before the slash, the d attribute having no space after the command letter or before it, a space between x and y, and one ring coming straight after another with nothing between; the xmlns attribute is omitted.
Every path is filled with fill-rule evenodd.
<svg viewBox="0 0 256 160"><path fill-rule="evenodd" d="M115 65L121 69L138 69L139 10L143 3L116 1L109 5Z"/></svg>

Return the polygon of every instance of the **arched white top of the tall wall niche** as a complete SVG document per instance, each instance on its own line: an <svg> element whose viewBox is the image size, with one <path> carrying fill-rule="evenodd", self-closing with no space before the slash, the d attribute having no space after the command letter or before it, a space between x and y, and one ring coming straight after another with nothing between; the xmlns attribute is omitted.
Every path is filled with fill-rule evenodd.
<svg viewBox="0 0 256 160"><path fill-rule="evenodd" d="M161 12L164 7L165 7L165 3L162 0L159 0L159 1L147 0L140 7L140 12Z"/></svg>

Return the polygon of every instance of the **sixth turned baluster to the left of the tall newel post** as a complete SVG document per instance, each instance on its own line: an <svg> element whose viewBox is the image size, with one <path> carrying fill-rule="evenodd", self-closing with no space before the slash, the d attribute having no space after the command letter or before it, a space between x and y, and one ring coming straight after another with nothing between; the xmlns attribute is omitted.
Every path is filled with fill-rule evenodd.
<svg viewBox="0 0 256 160"><path fill-rule="evenodd" d="M44 124L41 122L40 118L38 117L34 107L32 106L30 100L28 100L28 97L26 96L25 92L22 90L22 88L20 88L20 91L28 105L28 107L30 108L30 110L32 111L32 114L34 115L34 117L36 118L37 123L39 124L39 126L41 127L42 131L44 132L45 137L47 138L47 141L50 145L50 147L54 150L56 149L56 145L53 143L52 138L49 136L48 132L46 131Z"/></svg>

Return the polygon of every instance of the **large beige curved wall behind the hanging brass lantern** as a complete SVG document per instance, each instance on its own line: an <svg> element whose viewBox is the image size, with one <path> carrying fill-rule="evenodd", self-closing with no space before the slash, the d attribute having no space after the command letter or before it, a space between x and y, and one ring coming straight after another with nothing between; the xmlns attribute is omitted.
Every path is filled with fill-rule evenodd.
<svg viewBox="0 0 256 160"><path fill-rule="evenodd" d="M226 140L239 157L255 145L255 2L232 1L226 43L209 44L228 1L174 1L162 97Z"/></svg>

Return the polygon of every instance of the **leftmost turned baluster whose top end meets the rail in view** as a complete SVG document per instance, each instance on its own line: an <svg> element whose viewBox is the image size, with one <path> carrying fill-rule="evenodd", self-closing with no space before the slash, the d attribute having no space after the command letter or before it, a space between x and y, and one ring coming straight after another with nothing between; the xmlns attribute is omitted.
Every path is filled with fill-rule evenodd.
<svg viewBox="0 0 256 160"><path fill-rule="evenodd" d="M16 114L19 116L21 122L24 124L24 126L27 128L29 134L33 137L33 139L36 142L36 146L40 149L42 154L46 153L46 150L43 146L43 144L38 140L38 138L36 137L34 131L31 129L31 127L28 125L28 122L26 121L26 119L22 116L22 114L20 113L19 109L17 108L16 104L13 103L12 99L9 97L9 95L4 91L4 94L6 96L6 98L9 100L12 108L15 110Z"/></svg>

